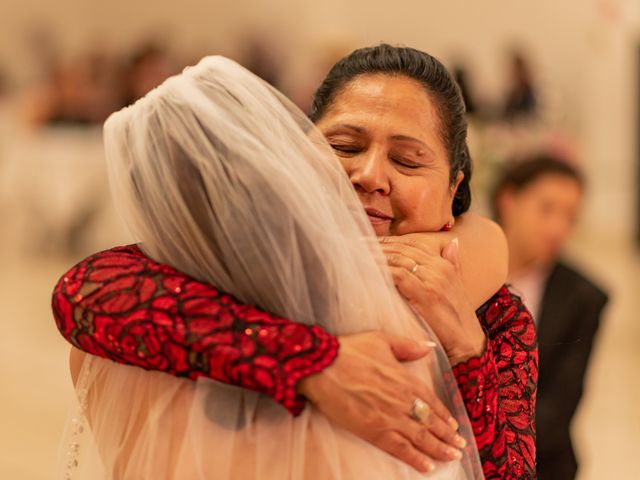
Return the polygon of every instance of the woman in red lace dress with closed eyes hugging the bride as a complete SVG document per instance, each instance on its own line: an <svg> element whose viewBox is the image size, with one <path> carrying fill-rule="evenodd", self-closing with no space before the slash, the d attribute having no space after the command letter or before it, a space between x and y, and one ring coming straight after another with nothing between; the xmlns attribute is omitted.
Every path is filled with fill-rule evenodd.
<svg viewBox="0 0 640 480"><path fill-rule="evenodd" d="M445 348L485 476L534 478L537 351L530 315L506 288L474 314L453 288L461 282L455 247L442 258L406 236L441 230L469 207L471 165L455 84L422 52L362 49L334 66L312 119L342 160L374 230L386 237L399 291ZM167 295L170 306L156 301ZM425 455L450 455L431 422L398 421L415 413L417 387L397 360L425 354L411 342L376 333L337 338L269 315L137 247L81 262L61 279L53 303L63 335L88 353L257 390L292 414L309 399L333 422L418 469L426 468ZM176 317L197 322L177 328L170 320ZM172 342L163 341L168 336ZM249 354L247 340L255 347ZM437 408L429 403L433 395L420 389L420 396Z"/></svg>

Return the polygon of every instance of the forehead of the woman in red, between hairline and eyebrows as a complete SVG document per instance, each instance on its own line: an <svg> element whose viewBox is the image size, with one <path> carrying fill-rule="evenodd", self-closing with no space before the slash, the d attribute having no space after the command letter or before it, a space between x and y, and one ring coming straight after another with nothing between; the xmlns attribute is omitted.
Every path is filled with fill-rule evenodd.
<svg viewBox="0 0 640 480"><path fill-rule="evenodd" d="M404 75L360 75L336 94L320 120L356 122L369 127L393 126L412 136L433 136L440 118L431 95Z"/></svg>

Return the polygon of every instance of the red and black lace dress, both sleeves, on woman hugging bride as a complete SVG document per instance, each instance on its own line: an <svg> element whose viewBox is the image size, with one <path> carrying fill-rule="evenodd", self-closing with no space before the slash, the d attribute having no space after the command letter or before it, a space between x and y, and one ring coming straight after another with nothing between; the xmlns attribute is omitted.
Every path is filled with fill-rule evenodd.
<svg viewBox="0 0 640 480"><path fill-rule="evenodd" d="M293 415L296 384L331 364L338 340L278 318L144 256L136 246L97 253L53 292L62 335L87 353L195 379L256 390ZM535 478L538 353L531 315L503 287L482 306L482 356L454 374L488 479Z"/></svg>

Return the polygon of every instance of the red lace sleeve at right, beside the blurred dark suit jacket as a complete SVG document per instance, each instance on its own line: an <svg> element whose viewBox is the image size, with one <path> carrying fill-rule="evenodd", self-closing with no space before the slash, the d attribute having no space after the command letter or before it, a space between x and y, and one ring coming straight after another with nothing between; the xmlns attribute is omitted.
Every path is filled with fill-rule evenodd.
<svg viewBox="0 0 640 480"><path fill-rule="evenodd" d="M534 479L538 348L531 314L505 287L478 310L482 356L456 365L487 479Z"/></svg>

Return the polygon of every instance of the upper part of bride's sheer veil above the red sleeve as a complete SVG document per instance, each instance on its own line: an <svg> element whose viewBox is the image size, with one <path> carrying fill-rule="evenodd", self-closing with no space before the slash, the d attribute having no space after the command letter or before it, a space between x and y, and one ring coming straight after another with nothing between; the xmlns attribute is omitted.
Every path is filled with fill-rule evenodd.
<svg viewBox="0 0 640 480"><path fill-rule="evenodd" d="M105 147L119 211L152 258L334 333L397 308L324 138L236 63L205 58L114 114Z"/></svg>

